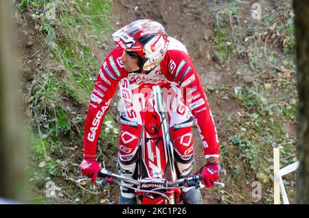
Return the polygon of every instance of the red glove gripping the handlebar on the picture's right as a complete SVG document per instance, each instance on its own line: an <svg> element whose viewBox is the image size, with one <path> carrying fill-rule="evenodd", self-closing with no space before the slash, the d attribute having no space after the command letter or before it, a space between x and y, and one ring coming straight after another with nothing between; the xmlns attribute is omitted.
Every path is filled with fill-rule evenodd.
<svg viewBox="0 0 309 218"><path fill-rule="evenodd" d="M206 159L207 163L201 167L202 181L206 188L214 186L213 182L219 179L219 162L220 159L217 156L209 156Z"/></svg>

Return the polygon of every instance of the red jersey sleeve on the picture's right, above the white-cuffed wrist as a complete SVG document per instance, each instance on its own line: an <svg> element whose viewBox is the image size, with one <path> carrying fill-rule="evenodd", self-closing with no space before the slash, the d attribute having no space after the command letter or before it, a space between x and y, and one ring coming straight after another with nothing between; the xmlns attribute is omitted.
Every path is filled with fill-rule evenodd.
<svg viewBox="0 0 309 218"><path fill-rule="evenodd" d="M174 64L174 68L169 67L169 71L172 69L170 71L170 80L177 82L182 88L185 88L184 93L189 94L184 99L187 101L187 105L196 121L204 147L204 154L219 154L220 147L214 117L211 114L205 90L190 60L190 56L183 51L176 50L169 51L168 56L169 64Z"/></svg>

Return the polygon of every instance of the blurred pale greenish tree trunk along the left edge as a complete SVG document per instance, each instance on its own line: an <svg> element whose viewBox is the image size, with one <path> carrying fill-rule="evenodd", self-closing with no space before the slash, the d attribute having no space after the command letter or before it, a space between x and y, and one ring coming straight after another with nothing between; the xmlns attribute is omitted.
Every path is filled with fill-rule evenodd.
<svg viewBox="0 0 309 218"><path fill-rule="evenodd" d="M0 197L24 201L27 152L13 26L12 1L0 1Z"/></svg>

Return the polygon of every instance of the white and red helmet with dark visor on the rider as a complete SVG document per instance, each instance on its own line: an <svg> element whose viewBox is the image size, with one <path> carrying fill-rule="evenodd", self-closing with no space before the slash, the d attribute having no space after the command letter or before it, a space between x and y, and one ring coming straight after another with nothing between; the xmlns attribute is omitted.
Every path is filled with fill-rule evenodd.
<svg viewBox="0 0 309 218"><path fill-rule="evenodd" d="M139 67L151 71L163 60L168 49L168 34L163 25L149 19L134 21L113 33L113 40L124 51L137 53Z"/></svg>

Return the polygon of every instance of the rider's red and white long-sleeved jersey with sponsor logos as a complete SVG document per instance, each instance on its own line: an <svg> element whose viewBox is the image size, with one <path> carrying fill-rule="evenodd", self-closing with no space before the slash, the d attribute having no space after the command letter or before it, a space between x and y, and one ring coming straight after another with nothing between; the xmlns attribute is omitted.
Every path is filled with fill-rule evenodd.
<svg viewBox="0 0 309 218"><path fill-rule="evenodd" d="M211 110L203 85L194 69L185 46L168 37L169 46L165 58L150 73L129 73L120 60L123 50L117 46L106 56L100 68L97 81L91 93L91 101L84 125L84 158L95 158L102 121L122 78L147 86L176 83L190 89L188 104L204 147L205 155L219 154L219 141Z"/></svg>

